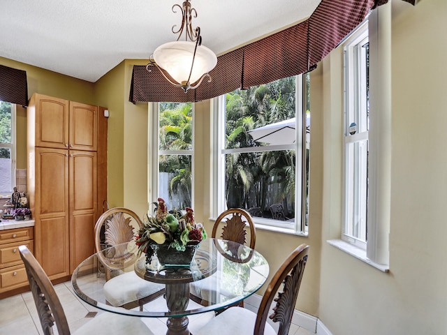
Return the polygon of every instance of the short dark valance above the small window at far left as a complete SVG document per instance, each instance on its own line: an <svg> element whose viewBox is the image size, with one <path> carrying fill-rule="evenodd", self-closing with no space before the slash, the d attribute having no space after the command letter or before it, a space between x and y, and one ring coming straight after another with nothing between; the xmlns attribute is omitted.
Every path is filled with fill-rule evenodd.
<svg viewBox="0 0 447 335"><path fill-rule="evenodd" d="M0 101L28 105L26 71L0 65Z"/></svg>

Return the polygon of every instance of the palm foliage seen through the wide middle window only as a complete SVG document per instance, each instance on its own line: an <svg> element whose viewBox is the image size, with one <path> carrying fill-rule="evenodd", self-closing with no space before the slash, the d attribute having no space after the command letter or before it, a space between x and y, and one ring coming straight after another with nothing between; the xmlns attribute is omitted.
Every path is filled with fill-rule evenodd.
<svg viewBox="0 0 447 335"><path fill-rule="evenodd" d="M295 77L237 90L226 95L226 149L260 147L249 131L295 117ZM275 185L276 187L272 188ZM228 207L268 208L272 201L293 211L295 151L263 151L226 155ZM272 196L270 196L272 198ZM291 213L293 215L293 213Z"/></svg>

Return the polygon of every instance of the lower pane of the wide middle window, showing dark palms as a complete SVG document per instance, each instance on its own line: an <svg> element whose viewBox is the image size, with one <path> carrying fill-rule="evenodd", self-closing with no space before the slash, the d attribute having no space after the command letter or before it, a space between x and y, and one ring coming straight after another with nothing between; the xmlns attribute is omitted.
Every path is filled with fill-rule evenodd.
<svg viewBox="0 0 447 335"><path fill-rule="evenodd" d="M225 158L228 208L250 209L253 216L281 221L295 218L294 150L226 154Z"/></svg>

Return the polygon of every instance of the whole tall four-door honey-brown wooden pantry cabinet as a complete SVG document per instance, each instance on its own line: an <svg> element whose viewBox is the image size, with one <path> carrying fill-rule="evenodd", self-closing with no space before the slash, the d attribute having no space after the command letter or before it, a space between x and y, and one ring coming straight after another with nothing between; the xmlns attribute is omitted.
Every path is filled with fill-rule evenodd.
<svg viewBox="0 0 447 335"><path fill-rule="evenodd" d="M94 251L98 107L34 94L27 129L34 255L50 279L63 278ZM103 190L107 181L100 182Z"/></svg>

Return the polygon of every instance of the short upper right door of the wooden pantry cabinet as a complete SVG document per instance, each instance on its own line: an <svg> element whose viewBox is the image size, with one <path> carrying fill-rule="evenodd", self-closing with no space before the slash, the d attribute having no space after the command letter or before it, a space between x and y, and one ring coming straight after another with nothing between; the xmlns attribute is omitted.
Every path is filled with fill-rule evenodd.
<svg viewBox="0 0 447 335"><path fill-rule="evenodd" d="M96 151L98 107L70 101L70 149Z"/></svg>

